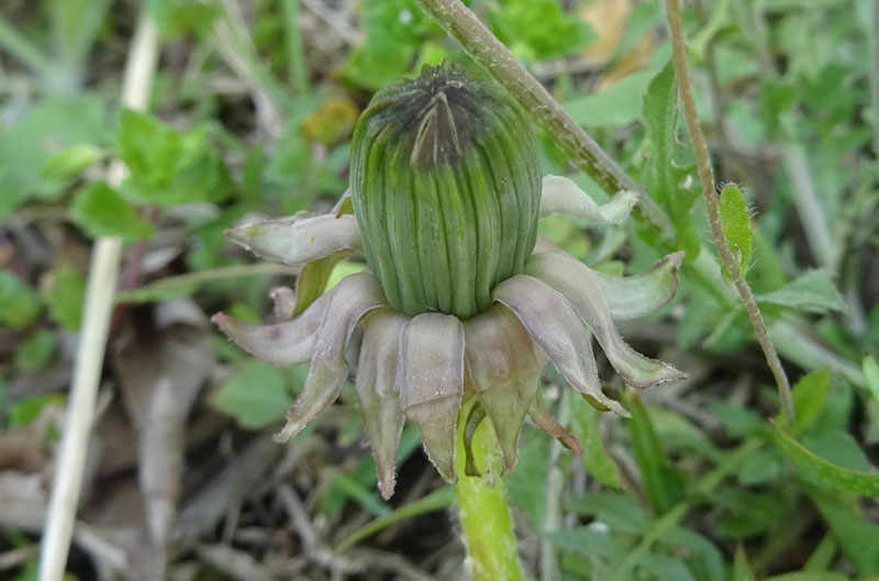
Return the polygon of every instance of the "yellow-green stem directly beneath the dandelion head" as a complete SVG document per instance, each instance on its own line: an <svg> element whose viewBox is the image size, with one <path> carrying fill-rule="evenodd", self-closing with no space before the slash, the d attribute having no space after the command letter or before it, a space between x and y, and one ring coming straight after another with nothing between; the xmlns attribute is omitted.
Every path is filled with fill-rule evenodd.
<svg viewBox="0 0 879 581"><path fill-rule="evenodd" d="M458 415L455 471L461 535L467 546L467 561L472 581L521 581L515 535L501 480L501 459L494 433L488 421L477 428L471 449L481 477L465 474L464 426L474 405L465 404Z"/></svg>

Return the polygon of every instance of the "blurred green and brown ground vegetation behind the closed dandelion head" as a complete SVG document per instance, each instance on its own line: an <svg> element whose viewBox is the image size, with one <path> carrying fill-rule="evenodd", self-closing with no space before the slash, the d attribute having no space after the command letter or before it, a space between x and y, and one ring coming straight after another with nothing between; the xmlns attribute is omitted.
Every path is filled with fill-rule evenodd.
<svg viewBox="0 0 879 581"><path fill-rule="evenodd" d="M601 228L557 217L542 234L617 273L688 253L672 304L622 331L689 380L635 394L609 379L623 421L544 378L586 454L525 428L509 490L526 569L879 576L879 5L685 5L715 172L741 186L722 198L727 237L797 381L782 432L682 145L664 3L469 3L674 226L669 239L641 215ZM142 8L162 42L148 113L119 107ZM330 208L371 92L444 58L472 66L411 0L2 3L0 578L35 579L89 252L105 235L126 245L70 579L464 577L453 495L416 429L386 503L353 390L274 445L307 369L257 362L207 324L219 310L270 319L268 290L296 275L254 262L223 228ZM544 172L604 195L541 138ZM112 159L130 170L118 187ZM335 280L363 267L343 262Z"/></svg>

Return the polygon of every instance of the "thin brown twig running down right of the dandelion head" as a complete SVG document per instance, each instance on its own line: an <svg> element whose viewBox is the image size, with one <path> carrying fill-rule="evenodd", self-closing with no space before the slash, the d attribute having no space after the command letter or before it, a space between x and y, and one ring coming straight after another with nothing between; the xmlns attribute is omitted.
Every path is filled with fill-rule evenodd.
<svg viewBox="0 0 879 581"><path fill-rule="evenodd" d="M785 368L781 367L781 361L778 358L775 345L772 345L769 338L766 323L764 323L763 314L760 314L760 309L757 306L757 301L754 299L750 286L748 286L747 280L745 280L745 277L738 268L738 262L733 257L730 245L726 243L726 237L723 235L720 203L717 201L717 191L714 186L714 174L711 169L705 136L702 134L702 126L699 124L699 116L696 112L693 89L690 86L690 77L687 71L687 47L683 44L683 27L680 20L679 0L668 0L668 25L671 30L671 58L675 63L675 71L678 77L678 86L680 87L687 126L690 130L690 138L693 143L696 165L699 179L702 182L702 193L705 197L711 234L714 237L717 254L730 271L735 288L742 297L742 301L745 303L745 311L747 311L750 325L754 327L754 335L757 338L757 343L759 343L763 348L766 361L769 364L769 369L771 369L772 376L778 384L778 396L781 402L781 410L785 414L785 418L790 422L793 420L793 400L790 394L788 376L785 373Z"/></svg>

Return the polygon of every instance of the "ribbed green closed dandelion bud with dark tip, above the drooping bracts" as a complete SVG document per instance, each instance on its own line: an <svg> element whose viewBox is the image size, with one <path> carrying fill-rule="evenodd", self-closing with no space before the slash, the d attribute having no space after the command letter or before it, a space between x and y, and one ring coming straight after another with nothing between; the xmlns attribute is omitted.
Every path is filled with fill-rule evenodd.
<svg viewBox="0 0 879 581"><path fill-rule="evenodd" d="M388 303L488 309L534 248L539 169L527 119L497 85L444 64L376 93L354 131L351 191Z"/></svg>

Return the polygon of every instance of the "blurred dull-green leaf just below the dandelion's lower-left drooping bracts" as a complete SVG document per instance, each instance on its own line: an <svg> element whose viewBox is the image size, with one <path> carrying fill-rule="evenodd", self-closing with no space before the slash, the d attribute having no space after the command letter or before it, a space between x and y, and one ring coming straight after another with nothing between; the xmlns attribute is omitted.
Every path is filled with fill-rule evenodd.
<svg viewBox="0 0 879 581"><path fill-rule="evenodd" d="M211 398L211 405L248 429L281 420L292 404L283 372L254 359L247 360Z"/></svg>

